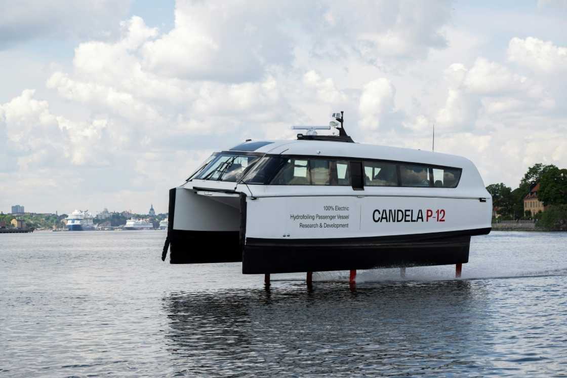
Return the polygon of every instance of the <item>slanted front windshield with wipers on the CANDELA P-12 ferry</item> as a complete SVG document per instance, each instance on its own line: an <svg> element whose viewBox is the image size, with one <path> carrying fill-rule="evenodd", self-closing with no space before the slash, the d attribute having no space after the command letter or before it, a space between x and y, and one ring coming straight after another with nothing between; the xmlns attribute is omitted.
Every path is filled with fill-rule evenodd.
<svg viewBox="0 0 567 378"><path fill-rule="evenodd" d="M206 165L194 174L197 180L236 182L259 159L259 155L243 155L222 152L215 154Z"/></svg>

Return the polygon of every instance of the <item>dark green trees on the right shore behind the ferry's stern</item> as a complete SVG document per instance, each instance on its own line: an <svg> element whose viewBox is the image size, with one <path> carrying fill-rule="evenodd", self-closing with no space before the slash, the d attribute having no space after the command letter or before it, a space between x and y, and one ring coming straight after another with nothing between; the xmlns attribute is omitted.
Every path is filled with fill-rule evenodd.
<svg viewBox="0 0 567 378"><path fill-rule="evenodd" d="M524 197L538 183L538 199L547 208L536 214L524 212ZM514 190L503 183L490 184L486 190L503 220L536 219L548 229L567 229L567 169L537 163L528 168Z"/></svg>

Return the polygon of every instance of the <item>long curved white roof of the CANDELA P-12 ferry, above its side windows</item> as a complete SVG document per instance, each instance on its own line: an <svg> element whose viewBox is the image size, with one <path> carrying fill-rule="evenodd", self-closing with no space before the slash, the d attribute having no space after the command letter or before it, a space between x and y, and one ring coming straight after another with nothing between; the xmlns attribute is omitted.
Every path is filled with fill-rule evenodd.
<svg viewBox="0 0 567 378"><path fill-rule="evenodd" d="M469 159L457 155L409 148L339 141L250 140L238 146L234 146L230 150L294 156L383 159L389 161L426 163L430 165L459 168L473 165Z"/></svg>

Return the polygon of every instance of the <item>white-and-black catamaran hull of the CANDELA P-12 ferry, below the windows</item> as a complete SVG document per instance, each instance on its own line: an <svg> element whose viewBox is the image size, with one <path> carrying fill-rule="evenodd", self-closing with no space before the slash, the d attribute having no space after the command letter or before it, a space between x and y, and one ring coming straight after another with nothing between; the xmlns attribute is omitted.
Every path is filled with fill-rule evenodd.
<svg viewBox="0 0 567 378"><path fill-rule="evenodd" d="M471 236L490 232L491 208L479 198L174 188L170 262L242 261L244 274L466 263Z"/></svg>

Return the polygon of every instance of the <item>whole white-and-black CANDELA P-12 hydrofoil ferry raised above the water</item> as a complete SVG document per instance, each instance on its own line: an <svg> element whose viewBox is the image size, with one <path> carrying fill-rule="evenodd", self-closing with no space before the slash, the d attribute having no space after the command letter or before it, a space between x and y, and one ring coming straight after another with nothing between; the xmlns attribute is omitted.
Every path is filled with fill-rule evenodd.
<svg viewBox="0 0 567 378"><path fill-rule="evenodd" d="M491 228L475 165L356 143L333 117L294 127L307 130L296 140L213 153L170 190L162 259L170 246L171 263L242 262L244 274L455 264L460 275L471 237Z"/></svg>

